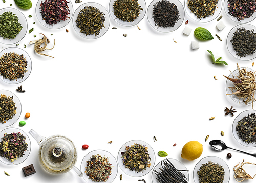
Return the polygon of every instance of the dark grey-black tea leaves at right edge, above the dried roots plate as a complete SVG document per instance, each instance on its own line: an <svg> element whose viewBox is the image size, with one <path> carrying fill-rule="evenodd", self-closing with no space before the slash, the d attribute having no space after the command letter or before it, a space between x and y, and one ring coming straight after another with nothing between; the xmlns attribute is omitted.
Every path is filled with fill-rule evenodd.
<svg viewBox="0 0 256 183"><path fill-rule="evenodd" d="M247 30L244 27L237 28L230 40L236 55L246 57L256 52L256 33L254 29Z"/></svg>

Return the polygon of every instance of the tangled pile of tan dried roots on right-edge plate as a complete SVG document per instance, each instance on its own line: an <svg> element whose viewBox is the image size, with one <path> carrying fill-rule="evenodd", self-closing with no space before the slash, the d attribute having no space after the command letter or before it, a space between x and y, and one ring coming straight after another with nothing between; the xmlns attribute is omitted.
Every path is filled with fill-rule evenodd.
<svg viewBox="0 0 256 183"><path fill-rule="evenodd" d="M232 81L234 84L234 87L228 87L232 91L232 94L226 95L236 95L239 98L239 100L242 98L243 102L246 105L250 101L253 104L253 101L255 101L254 92L256 91L255 73L251 71L246 71L246 68L242 68L241 70L239 66L238 71L239 75L233 75L233 78L224 76L228 80Z"/></svg>

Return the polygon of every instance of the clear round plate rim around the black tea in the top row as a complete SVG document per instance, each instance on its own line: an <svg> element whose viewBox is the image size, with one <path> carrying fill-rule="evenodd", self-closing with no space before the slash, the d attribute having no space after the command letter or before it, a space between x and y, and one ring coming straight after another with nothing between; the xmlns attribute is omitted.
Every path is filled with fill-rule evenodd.
<svg viewBox="0 0 256 183"><path fill-rule="evenodd" d="M183 7L182 3L179 0L170 0L169 1L170 3L173 3L177 6L180 16L179 16L179 20L175 23L174 27L163 28L163 27L155 26L155 21L153 19L153 15L152 15L154 5L157 4L158 2L159 2L159 0L153 0L151 2L150 6L148 6L148 9L147 9L147 20L148 20L148 22L150 22L150 25L157 31L160 31L160 32L175 31L176 29L178 29L181 26L181 24L184 20L184 17L185 17L185 10L184 10L184 7Z"/></svg>

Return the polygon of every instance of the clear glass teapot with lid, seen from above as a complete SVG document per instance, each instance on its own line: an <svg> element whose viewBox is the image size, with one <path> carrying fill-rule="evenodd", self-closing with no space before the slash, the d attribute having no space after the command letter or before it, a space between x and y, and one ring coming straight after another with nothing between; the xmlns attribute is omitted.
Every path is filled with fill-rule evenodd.
<svg viewBox="0 0 256 183"><path fill-rule="evenodd" d="M33 129L29 134L40 146L38 156L42 168L53 174L66 173L72 169L79 177L83 176L83 173L74 166L77 161L75 145L66 136L53 135L45 138Z"/></svg>

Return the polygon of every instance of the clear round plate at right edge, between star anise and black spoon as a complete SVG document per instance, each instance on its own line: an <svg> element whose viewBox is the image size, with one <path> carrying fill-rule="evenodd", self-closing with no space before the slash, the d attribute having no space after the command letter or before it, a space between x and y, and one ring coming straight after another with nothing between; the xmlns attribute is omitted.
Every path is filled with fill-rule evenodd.
<svg viewBox="0 0 256 183"><path fill-rule="evenodd" d="M238 121L241 121L244 117L252 114L252 113L256 113L256 110L245 110L243 112L241 112L237 117L236 119L234 119L234 122L233 122L233 125L232 125L232 132L233 132L233 135L234 135L234 139L236 139L240 144L246 146L246 147L256 147L256 143L245 143L244 141L242 141L242 139L239 138L238 134L237 134L237 131L236 131L236 128L237 128L237 125L238 125Z"/></svg>

